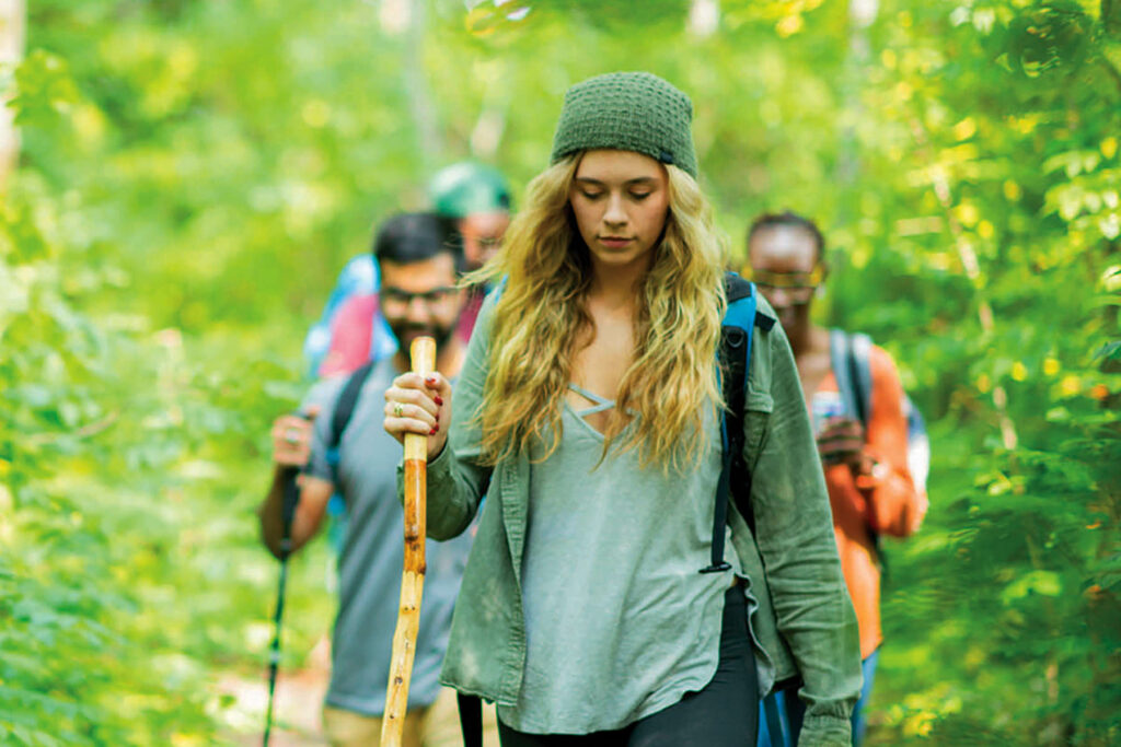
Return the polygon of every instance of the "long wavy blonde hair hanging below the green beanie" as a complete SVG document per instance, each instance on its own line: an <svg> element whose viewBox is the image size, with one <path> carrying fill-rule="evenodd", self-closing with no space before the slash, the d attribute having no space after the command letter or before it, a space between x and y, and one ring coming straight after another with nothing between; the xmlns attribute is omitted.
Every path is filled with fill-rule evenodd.
<svg viewBox="0 0 1121 747"><path fill-rule="evenodd" d="M538 440L547 458L563 435L562 398L577 340L594 332L584 306L590 254L568 204L581 156L529 184L502 251L469 277L469 282L506 278L491 316L490 367L476 413L484 464L528 454ZM666 169L666 226L639 289L634 358L615 394L601 460L637 412L637 427L621 449L638 449L641 466L660 464L668 473L695 463L705 448L705 409L723 405L715 361L726 300L725 243L712 208L688 174Z"/></svg>

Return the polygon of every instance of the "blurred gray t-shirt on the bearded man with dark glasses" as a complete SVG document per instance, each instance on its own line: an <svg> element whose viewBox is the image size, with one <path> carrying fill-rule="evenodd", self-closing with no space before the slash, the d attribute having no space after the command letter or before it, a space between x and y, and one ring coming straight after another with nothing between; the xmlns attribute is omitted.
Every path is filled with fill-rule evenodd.
<svg viewBox="0 0 1121 747"><path fill-rule="evenodd" d="M404 511L397 497L401 445L382 428L385 391L397 375L392 361L370 372L339 447L337 470L326 458L331 419L346 376L317 385L308 402L323 403L315 421L308 471L335 483L346 504L346 533L339 557L339 616L332 638L328 706L381 716L405 554ZM447 650L452 606L471 548L471 532L426 544L424 603L409 687L409 708L429 706Z"/></svg>

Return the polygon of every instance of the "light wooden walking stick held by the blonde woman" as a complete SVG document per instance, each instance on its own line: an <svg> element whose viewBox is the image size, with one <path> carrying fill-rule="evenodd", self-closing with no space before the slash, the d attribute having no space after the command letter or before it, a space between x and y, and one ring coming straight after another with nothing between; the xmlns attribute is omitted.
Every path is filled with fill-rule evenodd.
<svg viewBox="0 0 1121 747"><path fill-rule="evenodd" d="M436 366L436 340L418 337L409 347L413 373L427 376ZM405 568L401 571L401 603L393 631L393 653L389 664L386 711L381 719L381 747L400 747L405 711L413 678L417 631L420 627L420 597L424 594L424 536L428 437L405 435Z"/></svg>

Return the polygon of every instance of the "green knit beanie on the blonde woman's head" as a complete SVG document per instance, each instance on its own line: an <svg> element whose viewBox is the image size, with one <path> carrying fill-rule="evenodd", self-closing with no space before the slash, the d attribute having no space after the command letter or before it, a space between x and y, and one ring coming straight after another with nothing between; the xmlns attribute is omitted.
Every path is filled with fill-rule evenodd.
<svg viewBox="0 0 1121 747"><path fill-rule="evenodd" d="M695 179L692 121L689 97L657 75L596 75L564 94L550 162L593 148L633 150Z"/></svg>

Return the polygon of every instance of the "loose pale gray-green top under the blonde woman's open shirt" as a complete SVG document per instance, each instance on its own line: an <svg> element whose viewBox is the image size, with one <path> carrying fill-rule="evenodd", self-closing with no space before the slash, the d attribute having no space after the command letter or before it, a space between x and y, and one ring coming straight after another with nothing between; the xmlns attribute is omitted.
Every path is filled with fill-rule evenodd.
<svg viewBox="0 0 1121 747"><path fill-rule="evenodd" d="M504 723L532 734L618 729L703 689L732 580L697 572L710 562L721 470L714 413L695 468L668 477L633 450L600 463L603 436L567 401L562 424L548 459L541 447L530 455L525 680L517 706L499 707ZM731 541L724 559L742 576Z"/></svg>

